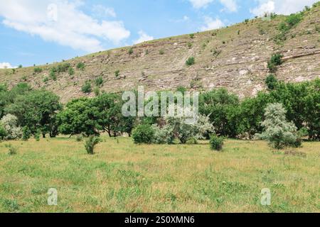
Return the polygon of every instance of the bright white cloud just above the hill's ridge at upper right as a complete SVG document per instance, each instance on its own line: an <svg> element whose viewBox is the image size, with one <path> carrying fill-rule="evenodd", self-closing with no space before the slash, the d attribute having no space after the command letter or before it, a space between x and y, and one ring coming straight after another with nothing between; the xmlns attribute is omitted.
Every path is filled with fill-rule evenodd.
<svg viewBox="0 0 320 227"><path fill-rule="evenodd" d="M318 0L256 0L259 3L250 13L261 16L263 13L277 13L289 15L301 11L304 6L311 6Z"/></svg>

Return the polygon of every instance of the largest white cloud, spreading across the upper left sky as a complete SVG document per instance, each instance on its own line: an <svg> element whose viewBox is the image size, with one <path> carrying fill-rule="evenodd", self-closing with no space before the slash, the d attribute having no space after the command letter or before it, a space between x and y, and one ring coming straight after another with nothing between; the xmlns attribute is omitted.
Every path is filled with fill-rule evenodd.
<svg viewBox="0 0 320 227"><path fill-rule="evenodd" d="M130 32L122 21L97 21L80 11L79 0L0 0L4 25L77 50L103 50L102 40L119 44Z"/></svg>

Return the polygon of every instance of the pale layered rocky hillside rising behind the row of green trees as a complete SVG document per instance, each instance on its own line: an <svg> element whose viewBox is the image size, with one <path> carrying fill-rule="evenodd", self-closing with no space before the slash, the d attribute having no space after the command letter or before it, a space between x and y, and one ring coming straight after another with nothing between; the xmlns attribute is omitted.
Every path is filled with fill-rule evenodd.
<svg viewBox="0 0 320 227"><path fill-rule="evenodd" d="M33 87L46 89L61 96L63 102L85 96L82 84L97 77L104 79L105 92L120 92L144 86L146 91L161 89L208 90L225 87L240 97L252 96L265 89L269 74L267 61L274 53L284 55L284 63L277 70L277 77L285 82L303 82L320 77L320 7L306 12L304 19L287 33L287 40L275 43L277 27L284 16L271 21L261 18L239 23L228 28L191 35L154 40L68 60L75 69L58 74L58 79L43 82L49 76L50 67L33 73L33 67L16 70L0 70L0 82L13 86L26 81ZM186 65L188 57L196 63ZM85 70L77 70L79 62ZM119 75L115 77L115 72ZM23 79L22 79L23 78ZM93 96L93 94L92 94Z"/></svg>

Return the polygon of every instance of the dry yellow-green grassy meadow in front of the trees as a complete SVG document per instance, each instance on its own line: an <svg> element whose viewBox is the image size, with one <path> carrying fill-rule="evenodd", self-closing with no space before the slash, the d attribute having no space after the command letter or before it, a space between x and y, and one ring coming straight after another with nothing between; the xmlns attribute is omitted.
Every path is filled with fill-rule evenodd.
<svg viewBox="0 0 320 227"><path fill-rule="evenodd" d="M18 148L9 155L6 144ZM134 145L104 138L87 155L74 138L0 143L1 212L319 212L320 143L272 153L262 141ZM289 150L287 150L289 151ZM48 206L48 189L58 206ZM272 205L260 204L261 189Z"/></svg>

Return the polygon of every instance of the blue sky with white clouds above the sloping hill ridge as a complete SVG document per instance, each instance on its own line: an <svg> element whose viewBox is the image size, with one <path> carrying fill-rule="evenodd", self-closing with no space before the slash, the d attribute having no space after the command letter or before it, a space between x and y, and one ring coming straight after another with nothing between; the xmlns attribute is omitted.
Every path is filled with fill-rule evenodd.
<svg viewBox="0 0 320 227"><path fill-rule="evenodd" d="M0 0L0 68L230 26L318 0Z"/></svg>

